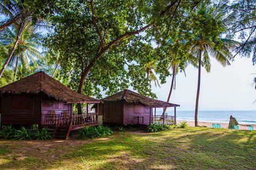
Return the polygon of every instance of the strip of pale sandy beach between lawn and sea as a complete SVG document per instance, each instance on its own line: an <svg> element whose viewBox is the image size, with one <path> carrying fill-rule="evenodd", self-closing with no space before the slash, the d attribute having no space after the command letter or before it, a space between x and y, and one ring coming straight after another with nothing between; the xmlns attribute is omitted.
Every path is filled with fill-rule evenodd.
<svg viewBox="0 0 256 170"><path fill-rule="evenodd" d="M184 120L177 120L177 123L180 123ZM188 126L194 126L194 121L187 121ZM218 123L218 122L205 122L205 121L199 121L199 126L207 126L207 127L212 127L213 123ZM221 127L227 128L229 126L229 123L219 123L221 124ZM248 130L248 126L254 126L254 130L256 129L256 124L239 124L239 129L240 130Z"/></svg>

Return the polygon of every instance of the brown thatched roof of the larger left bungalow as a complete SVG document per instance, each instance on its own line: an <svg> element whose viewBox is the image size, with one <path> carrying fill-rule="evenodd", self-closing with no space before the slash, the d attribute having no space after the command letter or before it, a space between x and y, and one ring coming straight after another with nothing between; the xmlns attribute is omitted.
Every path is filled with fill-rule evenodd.
<svg viewBox="0 0 256 170"><path fill-rule="evenodd" d="M44 72L37 72L21 80L0 88L1 94L38 94L43 92L49 97L66 103L100 103L95 98L79 94Z"/></svg>

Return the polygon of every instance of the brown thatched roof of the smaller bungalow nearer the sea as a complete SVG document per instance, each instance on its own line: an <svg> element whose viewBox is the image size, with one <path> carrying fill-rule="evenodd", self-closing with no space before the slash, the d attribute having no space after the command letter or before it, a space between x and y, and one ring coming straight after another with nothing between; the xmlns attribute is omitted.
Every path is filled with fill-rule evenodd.
<svg viewBox="0 0 256 170"><path fill-rule="evenodd" d="M149 98L144 95L137 94L127 89L102 99L102 101L121 101L121 100L125 100L127 101L127 103L138 103L138 104L143 104L144 106L150 106L150 107L180 106L179 104L173 104L173 103L167 103L161 100L155 100L153 98Z"/></svg>

